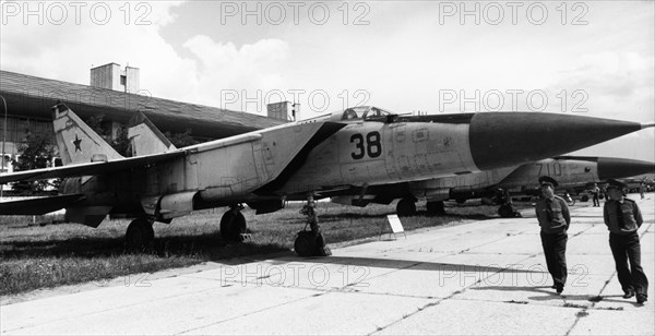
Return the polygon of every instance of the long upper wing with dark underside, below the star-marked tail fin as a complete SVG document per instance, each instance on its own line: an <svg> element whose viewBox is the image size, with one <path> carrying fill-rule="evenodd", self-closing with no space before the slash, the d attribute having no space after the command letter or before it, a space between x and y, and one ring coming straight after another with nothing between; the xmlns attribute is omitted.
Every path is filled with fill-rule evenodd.
<svg viewBox="0 0 655 336"><path fill-rule="evenodd" d="M129 157L110 161L95 161L62 167L33 169L0 175L0 184L24 180L45 180L81 176L95 176L131 168L141 168L156 163L184 156L184 151L153 154L147 156Z"/></svg>

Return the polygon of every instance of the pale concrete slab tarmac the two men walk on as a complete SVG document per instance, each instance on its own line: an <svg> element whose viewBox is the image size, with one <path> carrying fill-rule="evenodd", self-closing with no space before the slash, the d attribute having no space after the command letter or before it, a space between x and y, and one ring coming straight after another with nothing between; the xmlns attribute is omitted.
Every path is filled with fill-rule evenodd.
<svg viewBox="0 0 655 336"><path fill-rule="evenodd" d="M333 249L135 275L0 307L2 335L654 335L655 197L636 200L648 301L622 299L602 207L572 207L561 296L534 209Z"/></svg>

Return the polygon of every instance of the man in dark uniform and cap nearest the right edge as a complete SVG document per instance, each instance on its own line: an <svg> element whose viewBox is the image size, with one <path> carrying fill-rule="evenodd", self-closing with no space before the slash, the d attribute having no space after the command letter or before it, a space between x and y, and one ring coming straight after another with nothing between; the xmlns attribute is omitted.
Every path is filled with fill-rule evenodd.
<svg viewBox="0 0 655 336"><path fill-rule="evenodd" d="M643 223L639 206L632 200L626 199L626 184L617 180L608 180L607 194L603 217L609 230L609 248L617 266L617 276L630 299L636 293L636 302L644 303L647 298L648 279L641 266L641 244L636 230ZM630 267L628 267L630 261Z"/></svg>

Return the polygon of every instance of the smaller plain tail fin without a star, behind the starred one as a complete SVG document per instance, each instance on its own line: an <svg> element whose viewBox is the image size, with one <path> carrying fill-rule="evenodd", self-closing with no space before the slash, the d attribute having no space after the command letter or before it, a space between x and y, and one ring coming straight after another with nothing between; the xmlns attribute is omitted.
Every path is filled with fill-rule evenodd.
<svg viewBox="0 0 655 336"><path fill-rule="evenodd" d="M136 112L128 127L128 139L132 144L132 155L148 155L176 149L175 145L147 119Z"/></svg>

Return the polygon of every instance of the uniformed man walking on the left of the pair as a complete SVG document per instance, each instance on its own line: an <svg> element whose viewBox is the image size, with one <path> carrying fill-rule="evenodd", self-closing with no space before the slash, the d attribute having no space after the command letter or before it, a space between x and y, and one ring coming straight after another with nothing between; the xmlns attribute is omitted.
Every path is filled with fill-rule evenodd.
<svg viewBox="0 0 655 336"><path fill-rule="evenodd" d="M540 177L541 196L537 201L536 213L541 227L541 245L546 256L548 273L552 276L552 288L557 293L564 290L567 283L567 230L571 224L567 202L555 195L557 181L550 177Z"/></svg>

